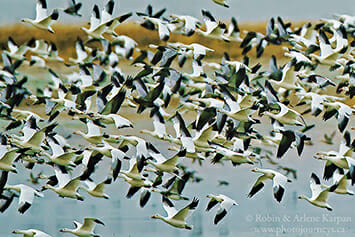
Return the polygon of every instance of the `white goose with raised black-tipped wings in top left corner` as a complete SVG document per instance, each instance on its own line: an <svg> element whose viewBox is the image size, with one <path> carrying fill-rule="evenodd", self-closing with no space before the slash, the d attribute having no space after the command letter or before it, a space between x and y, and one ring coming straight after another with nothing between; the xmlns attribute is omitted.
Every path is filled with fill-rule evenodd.
<svg viewBox="0 0 355 237"><path fill-rule="evenodd" d="M22 22L27 22L32 24L33 26L42 29L48 30L51 33L54 33L54 30L51 28L51 24L53 24L59 17L58 11L53 10L51 15L47 14L47 2L46 0L37 0L36 4L36 19L22 19Z"/></svg>

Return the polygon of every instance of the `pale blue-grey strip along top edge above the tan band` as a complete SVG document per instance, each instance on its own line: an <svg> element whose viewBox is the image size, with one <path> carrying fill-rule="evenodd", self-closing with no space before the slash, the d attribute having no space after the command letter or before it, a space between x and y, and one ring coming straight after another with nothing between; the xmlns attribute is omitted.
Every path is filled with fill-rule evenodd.
<svg viewBox="0 0 355 237"><path fill-rule="evenodd" d="M87 22L93 4L101 7L107 0L77 0L83 2L82 18L61 16L63 22ZM228 1L228 0L227 0ZM49 9L65 7L67 0L47 0ZM335 4L336 2L336 4ZM212 0L117 0L115 14L166 7L167 15L174 13L201 17L201 9L208 9L220 20L234 16L240 22L267 21L281 16L287 20L317 20L330 18L333 13L355 15L354 0L229 0L230 8L216 5ZM36 0L0 0L0 24L19 23L24 17L35 17Z"/></svg>

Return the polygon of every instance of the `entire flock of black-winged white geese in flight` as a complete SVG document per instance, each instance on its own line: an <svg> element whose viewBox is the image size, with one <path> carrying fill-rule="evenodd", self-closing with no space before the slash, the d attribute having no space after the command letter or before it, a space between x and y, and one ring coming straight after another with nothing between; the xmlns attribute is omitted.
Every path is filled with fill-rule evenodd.
<svg viewBox="0 0 355 237"><path fill-rule="evenodd" d="M228 7L225 1L213 1ZM60 15L80 17L81 6L72 0L68 8L49 12L46 0L37 0L36 18L23 22L55 33L51 25ZM266 34L262 34L241 32L234 17L229 23L221 22L208 10L202 10L200 20L174 14L166 17L166 9L154 12L149 5L145 12L136 13L137 22L158 31L161 43L143 50L134 39L115 31L133 13L116 16L114 10L114 0L107 1L101 11L98 5L93 6L90 27L81 28L88 38L77 40L77 57L68 61L59 56L54 43L32 39L17 45L9 38L8 49L2 52L0 70L0 115L5 124L0 136L1 212L18 198L18 211L25 213L32 204L39 205L38 198L51 191L78 201L85 199L81 189L93 197L109 199L105 193L107 185L125 182L129 185L127 198L141 190L141 207L152 192L161 196L167 216L156 214L152 218L190 230L192 226L186 219L198 207L199 199L193 197L179 210L174 203L190 200L183 194L185 185L201 181L193 166L189 167L190 162L200 165L230 162L235 169L250 166L252 172L261 176L251 185L248 197L256 195L272 180L273 196L281 202L288 183L296 179L296 170L280 165L277 159L290 149L297 150L300 156L304 146L310 144L307 133L314 125L304 118L307 113L322 116L323 120L336 119L337 133L344 140L338 151L320 151L314 155L320 164L325 161L323 177L332 179L332 184L322 184L312 173L312 197L299 198L332 210L327 203L330 193L354 194L349 188L355 183L355 142L351 141L348 126L354 108L345 100L355 95L355 41L351 41L355 17L337 15L298 28L280 17L272 18ZM206 56L214 49L198 42L169 42L170 34L201 34L215 40L239 42L244 58L237 61L224 53L223 58L208 62ZM257 57L261 57L269 45L284 47L289 60L280 65L273 56L269 66L251 65L249 51L254 49ZM130 62L136 73L124 73L121 61ZM49 62L57 66L50 67ZM29 76L19 73L23 65L48 71L50 83L35 91L27 88ZM64 65L70 74L58 70ZM186 70L190 67L192 72ZM327 77L328 71L337 76ZM330 95L331 90L334 95ZM178 106L174 105L176 102ZM33 112L32 106L43 113ZM148 114L153 130L127 135L135 129L135 123L122 110L137 117ZM72 131L65 135L56 121L63 116L83 124L86 131L66 128ZM147 136L154 139L146 139ZM324 142L333 144L334 136L335 133L325 134ZM75 144L70 137L82 139L82 145ZM167 156L154 145L157 141L175 153ZM104 171L107 177L95 180L93 174L104 159L110 160L109 169ZM129 168L121 169L125 164ZM263 168L264 165L270 168ZM17 173L19 166L43 167L43 173L31 173L29 183L10 184L7 178ZM238 205L224 194L208 194L207 198L206 211L219 205L214 224ZM89 217L83 224L76 221L74 224L75 229L60 231L98 236L94 233L95 224L104 225ZM36 229L13 233L50 236Z"/></svg>

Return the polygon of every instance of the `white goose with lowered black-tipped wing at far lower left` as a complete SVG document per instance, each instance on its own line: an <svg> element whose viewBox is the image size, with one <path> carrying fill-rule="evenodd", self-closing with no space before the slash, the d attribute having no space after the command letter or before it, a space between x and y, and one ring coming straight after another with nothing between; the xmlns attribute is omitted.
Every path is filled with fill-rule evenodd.
<svg viewBox="0 0 355 237"><path fill-rule="evenodd" d="M23 214L31 207L35 196L43 197L43 193L25 184L6 185L5 189L15 190L20 193L18 211Z"/></svg>

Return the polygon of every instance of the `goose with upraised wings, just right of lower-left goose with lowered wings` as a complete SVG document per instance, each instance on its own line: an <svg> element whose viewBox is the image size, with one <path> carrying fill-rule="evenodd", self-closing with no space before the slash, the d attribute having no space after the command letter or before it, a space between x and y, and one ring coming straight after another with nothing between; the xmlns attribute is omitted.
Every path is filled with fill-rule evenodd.
<svg viewBox="0 0 355 237"><path fill-rule="evenodd" d="M58 166L54 167L54 171L55 183L58 183L58 186L53 187L50 183L47 183L43 188L51 189L63 198L68 197L83 201L84 197L77 192L80 185L80 177L72 179L68 173L63 173Z"/></svg>

